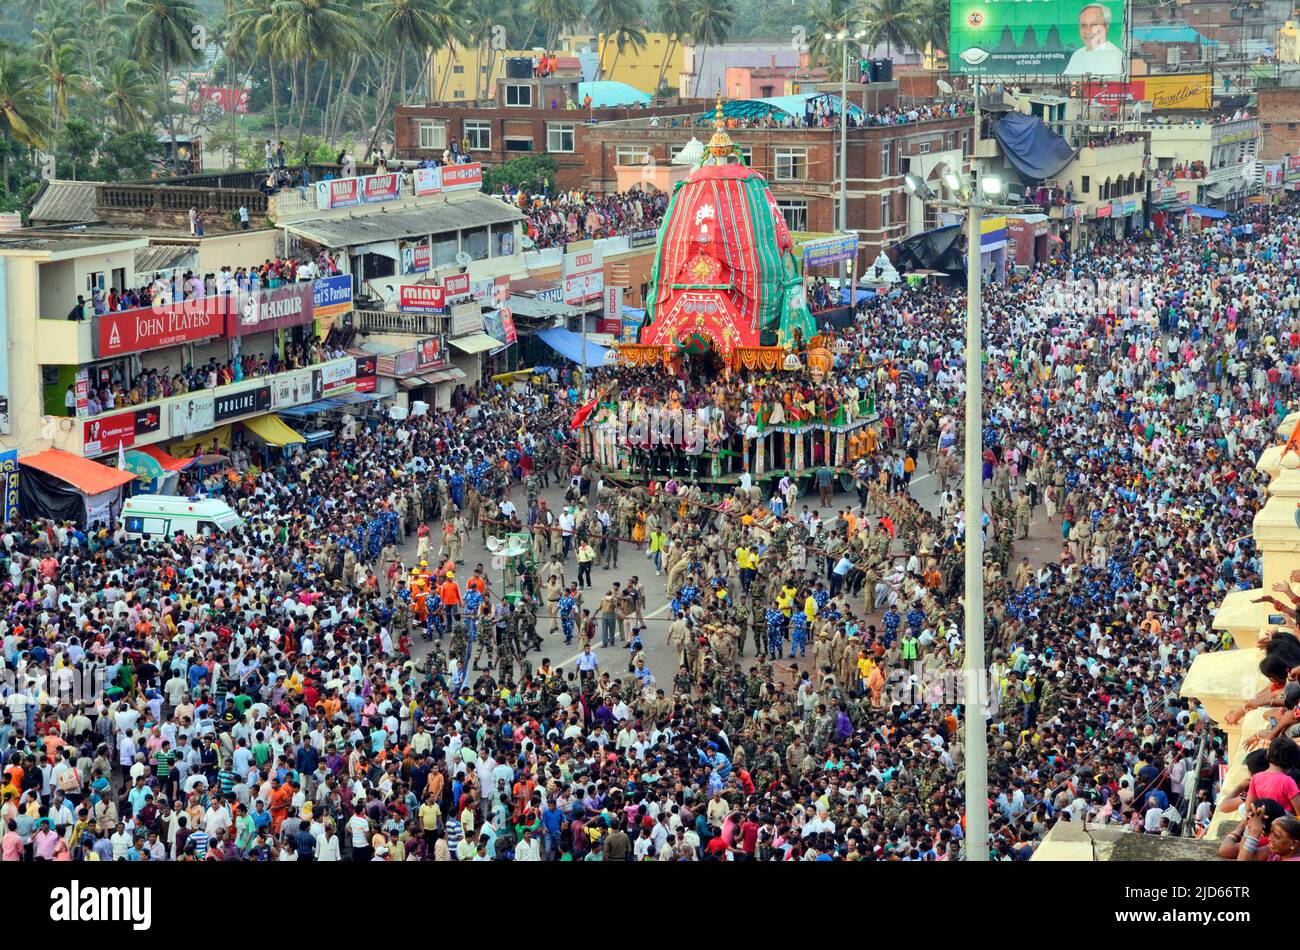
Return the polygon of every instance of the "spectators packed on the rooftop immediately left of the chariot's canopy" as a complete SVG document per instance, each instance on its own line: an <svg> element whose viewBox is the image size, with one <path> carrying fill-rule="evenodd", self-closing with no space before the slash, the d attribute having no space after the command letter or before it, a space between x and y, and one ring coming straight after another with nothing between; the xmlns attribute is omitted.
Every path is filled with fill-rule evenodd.
<svg viewBox="0 0 1300 950"><path fill-rule="evenodd" d="M524 212L526 237L537 250L658 229L668 208L668 196L662 191L603 195L575 190L552 198L545 191L506 186L498 198Z"/></svg>

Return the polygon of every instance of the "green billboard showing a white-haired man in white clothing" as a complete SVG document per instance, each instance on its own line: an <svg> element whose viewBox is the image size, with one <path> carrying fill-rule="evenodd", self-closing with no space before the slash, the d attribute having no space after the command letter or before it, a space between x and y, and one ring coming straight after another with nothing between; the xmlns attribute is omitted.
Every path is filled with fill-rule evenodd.
<svg viewBox="0 0 1300 950"><path fill-rule="evenodd" d="M953 0L949 70L1122 78L1124 9L1124 0Z"/></svg>

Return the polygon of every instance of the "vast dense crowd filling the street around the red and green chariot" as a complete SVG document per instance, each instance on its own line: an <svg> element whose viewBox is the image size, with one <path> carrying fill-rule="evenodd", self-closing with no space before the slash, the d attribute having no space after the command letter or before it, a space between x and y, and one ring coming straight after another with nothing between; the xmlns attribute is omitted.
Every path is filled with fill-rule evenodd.
<svg viewBox="0 0 1300 950"><path fill-rule="evenodd" d="M863 304L820 382L684 364L493 386L222 481L229 534L8 525L0 854L953 860L968 715L989 720L996 859L1056 821L1204 827L1222 737L1178 685L1223 646L1225 593L1258 584L1254 459L1300 355L1295 205L1222 224L985 289L987 697L956 676L965 302L920 286ZM874 404L849 470L822 459L770 493L629 485L571 428L593 399L640 400L703 409L722 441L824 418L836 394ZM913 496L922 456L937 511ZM1061 543L1035 564L1017 543L1039 508ZM463 563L476 530L529 539L517 587ZM662 580L597 597L620 542ZM649 637L673 668L650 668ZM1283 682L1296 646L1274 634ZM1294 743L1269 743L1240 849L1282 858Z"/></svg>

